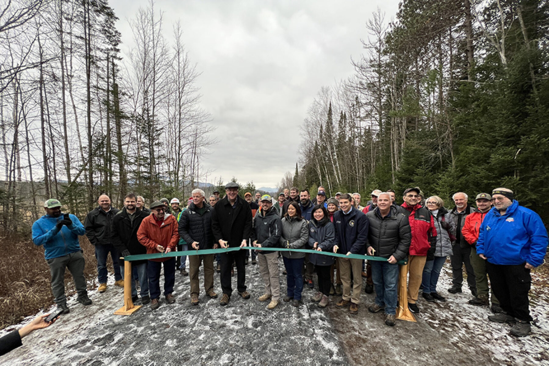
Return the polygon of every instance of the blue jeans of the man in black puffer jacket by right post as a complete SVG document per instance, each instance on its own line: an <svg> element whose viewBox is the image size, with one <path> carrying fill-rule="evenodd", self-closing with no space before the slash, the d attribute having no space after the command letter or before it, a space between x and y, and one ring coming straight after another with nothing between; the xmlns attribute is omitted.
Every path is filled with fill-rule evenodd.
<svg viewBox="0 0 549 366"><path fill-rule="evenodd" d="M396 315L398 297L399 265L382 261L368 261L372 264L372 280L376 288L376 303L385 306L385 314Z"/></svg>

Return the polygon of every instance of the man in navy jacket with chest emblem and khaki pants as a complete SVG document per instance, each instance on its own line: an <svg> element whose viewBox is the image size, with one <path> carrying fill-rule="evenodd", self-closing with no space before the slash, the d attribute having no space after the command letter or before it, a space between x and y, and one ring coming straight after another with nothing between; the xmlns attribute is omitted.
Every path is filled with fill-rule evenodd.
<svg viewBox="0 0 549 366"><path fill-rule="evenodd" d="M335 245L334 252L340 254L365 254L368 241L368 219L362 212L352 207L349 194L339 197L341 210L334 213ZM360 291L362 290L362 260L338 258L343 297L335 304L337 307L349 305L349 312L358 312ZM352 272L352 294L351 294Z"/></svg>

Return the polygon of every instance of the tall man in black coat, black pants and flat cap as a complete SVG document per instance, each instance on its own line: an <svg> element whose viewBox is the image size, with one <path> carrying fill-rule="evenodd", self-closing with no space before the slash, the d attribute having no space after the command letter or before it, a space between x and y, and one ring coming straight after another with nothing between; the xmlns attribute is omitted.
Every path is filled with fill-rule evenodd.
<svg viewBox="0 0 549 366"><path fill-rule="evenodd" d="M251 238L251 209L248 202L238 196L238 184L229 182L225 185L225 197L217 202L211 215L211 228L214 233L214 248L221 246L246 246ZM221 254L221 289L223 296L220 305L227 305L233 288L231 286L231 268L233 262L237 266L237 290L244 299L249 299L246 291L246 274L244 260L247 253L244 250Z"/></svg>

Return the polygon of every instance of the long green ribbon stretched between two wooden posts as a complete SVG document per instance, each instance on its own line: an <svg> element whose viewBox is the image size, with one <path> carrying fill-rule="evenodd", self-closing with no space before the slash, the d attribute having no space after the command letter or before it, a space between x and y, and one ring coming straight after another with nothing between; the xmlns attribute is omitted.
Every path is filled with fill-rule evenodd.
<svg viewBox="0 0 549 366"><path fill-rule="evenodd" d="M325 252L325 251L316 251L313 249L292 249L292 248L256 248L255 246L243 246L242 248L239 246L229 247L229 248L220 248L220 249L200 249L200 250L183 250L178 252L169 252L169 253L158 253L158 254L138 254L138 255L130 255L124 257L125 261L142 261L142 260L149 260L149 259L157 259L157 258L169 258L169 257L181 257L181 256L194 256L194 255L205 255L205 254L218 254L218 253L227 253L227 252L233 252L240 249L251 249L251 250L266 250L266 251L278 251L278 252L299 252L299 253L310 253L310 254L320 254L320 255L327 255L332 257L340 257L340 258L352 258L352 259L360 259L360 260L368 260L368 261L381 261L386 262L387 258L383 257L372 257L362 254L339 254L339 253L333 253L333 252ZM407 264L408 258L405 258L401 261L396 262L397 264Z"/></svg>

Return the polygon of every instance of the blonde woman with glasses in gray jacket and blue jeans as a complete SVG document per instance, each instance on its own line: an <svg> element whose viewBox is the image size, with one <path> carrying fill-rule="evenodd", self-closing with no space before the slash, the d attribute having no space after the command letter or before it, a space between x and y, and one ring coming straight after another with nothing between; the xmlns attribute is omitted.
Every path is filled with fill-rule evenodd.
<svg viewBox="0 0 549 366"><path fill-rule="evenodd" d="M446 301L436 292L436 283L439 281L440 270L446 262L446 257L452 254L450 233L455 230L455 224L450 218L449 211L444 208L444 201L439 196L430 196L426 204L427 209L433 215L437 235L434 251L429 250L427 262L423 267L423 298L428 302Z"/></svg>

